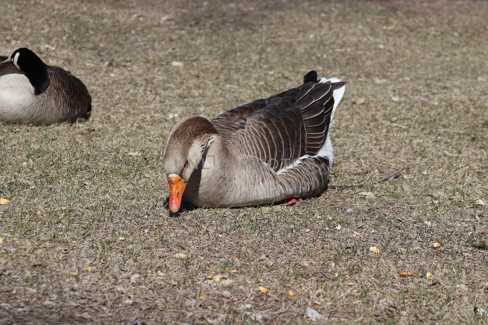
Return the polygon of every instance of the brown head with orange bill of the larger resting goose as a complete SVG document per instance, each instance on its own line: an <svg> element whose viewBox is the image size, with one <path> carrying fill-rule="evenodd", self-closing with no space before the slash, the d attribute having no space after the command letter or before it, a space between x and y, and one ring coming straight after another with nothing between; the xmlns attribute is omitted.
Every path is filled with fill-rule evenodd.
<svg viewBox="0 0 488 325"><path fill-rule="evenodd" d="M215 134L218 133L213 125L197 115L183 119L169 134L163 166L169 183L171 212L180 209L186 184L191 174L202 167L202 159Z"/></svg>

